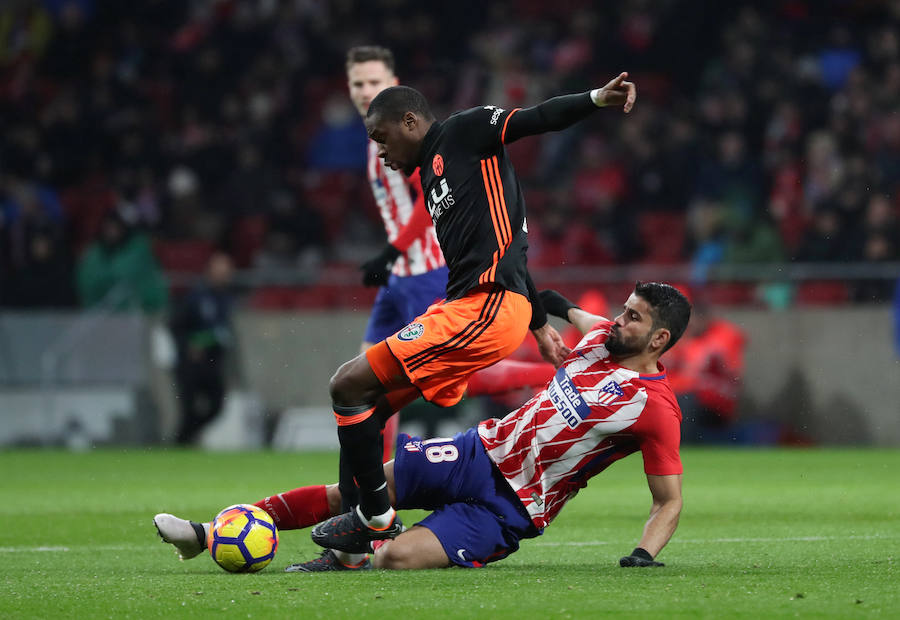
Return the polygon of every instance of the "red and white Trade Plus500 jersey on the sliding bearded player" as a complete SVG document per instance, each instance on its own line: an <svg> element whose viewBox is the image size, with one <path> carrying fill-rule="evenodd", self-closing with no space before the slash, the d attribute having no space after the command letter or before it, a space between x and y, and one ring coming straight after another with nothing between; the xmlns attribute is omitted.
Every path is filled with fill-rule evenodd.
<svg viewBox="0 0 900 620"><path fill-rule="evenodd" d="M545 527L589 478L641 451L651 475L682 473L681 410L659 365L641 375L609 358L611 321L587 333L547 387L478 434L488 456Z"/></svg>

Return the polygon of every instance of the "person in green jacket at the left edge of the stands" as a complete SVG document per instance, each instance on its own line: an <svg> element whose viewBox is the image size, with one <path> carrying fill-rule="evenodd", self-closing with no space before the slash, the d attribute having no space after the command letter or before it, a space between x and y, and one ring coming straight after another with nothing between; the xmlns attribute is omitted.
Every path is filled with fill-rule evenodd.
<svg viewBox="0 0 900 620"><path fill-rule="evenodd" d="M165 309L169 289L150 248L150 238L131 221L128 212L106 213L98 238L77 266L78 296L86 308L153 313Z"/></svg>

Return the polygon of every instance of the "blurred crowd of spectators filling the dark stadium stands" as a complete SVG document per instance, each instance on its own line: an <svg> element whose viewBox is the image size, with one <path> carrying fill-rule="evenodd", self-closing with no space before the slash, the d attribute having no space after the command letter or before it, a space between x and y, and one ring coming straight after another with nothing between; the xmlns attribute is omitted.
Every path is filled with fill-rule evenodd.
<svg viewBox="0 0 900 620"><path fill-rule="evenodd" d="M439 118L631 73L629 117L510 148L538 268L898 260L898 0L6 0L0 304L131 282L112 303L152 311L217 251L311 280L367 258L364 43Z"/></svg>

